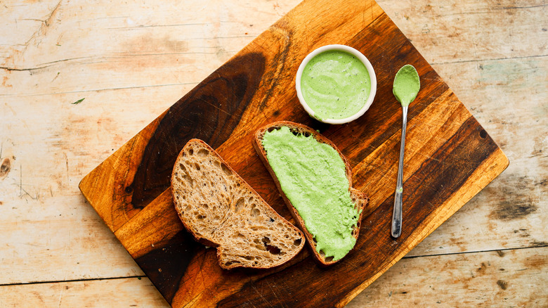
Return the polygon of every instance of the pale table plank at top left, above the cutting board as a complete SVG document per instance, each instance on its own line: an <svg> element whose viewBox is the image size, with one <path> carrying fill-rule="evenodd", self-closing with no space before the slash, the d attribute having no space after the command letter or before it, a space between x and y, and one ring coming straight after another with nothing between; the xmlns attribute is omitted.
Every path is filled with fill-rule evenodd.
<svg viewBox="0 0 548 308"><path fill-rule="evenodd" d="M63 1L7 4L9 18L0 22L0 28L6 29L0 38L0 68L4 68L0 80L5 77L8 86L0 94L88 94L197 84L298 3L96 2L108 11ZM143 13L150 11L156 13ZM242 15L252 19L244 20ZM27 25L25 32L18 31L18 25ZM37 78L42 79L39 86ZM167 101L162 110L184 93Z"/></svg>

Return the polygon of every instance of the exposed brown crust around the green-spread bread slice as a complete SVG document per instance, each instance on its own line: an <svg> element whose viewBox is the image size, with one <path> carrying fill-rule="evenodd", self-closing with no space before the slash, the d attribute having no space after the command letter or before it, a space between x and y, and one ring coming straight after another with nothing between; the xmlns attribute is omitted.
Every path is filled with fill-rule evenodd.
<svg viewBox="0 0 548 308"><path fill-rule="evenodd" d="M349 192L350 192L352 203L354 204L355 210L358 210L358 212L360 213L360 216L358 217L358 222L355 224L355 226L352 230L352 233L351 233L351 235L356 240L358 239L358 235L360 233L360 222L362 221L363 214L365 212L365 211L363 211L363 209L365 208L367 203L369 203L369 198L367 197L367 195L365 195L365 193L361 193L360 191L358 191L358 190L351 187L352 186L352 172L351 172L351 169L350 169L350 165L348 164L348 160L346 160L344 155L342 155L341 151L329 139L327 139L327 138L325 138L325 136L322 136L321 134L319 134L318 131L315 131L314 129L311 129L310 127L307 127L303 124L298 124L298 123L288 122L288 121L274 122L274 123L266 125L265 127L262 127L258 131L256 131L255 138L254 138L254 144L253 144L254 148L257 151L257 153L259 153L259 157L261 158L264 165L268 169L268 172L270 172L270 175L273 177L273 179L275 181L275 184L276 184L276 186L278 186L278 190L280 191L280 194L282 195L282 198L285 200L285 203L286 203L287 207L289 208L289 211L292 213L295 221L297 222L297 224L299 224L299 227L301 228L301 230L304 231L304 235L306 236L306 240L308 241L308 245L311 247L313 255L315 256L316 259L318 259L318 261L322 265L334 264L334 263L338 262L340 259L339 260L334 260L333 257L326 257L325 254L321 250L320 250L320 252L316 251L316 243L317 242L315 241L315 238L314 238L313 234L311 234L306 229L304 219L302 219L302 217L299 215L299 212L297 212L295 207L292 205L291 201L289 201L289 199L285 195L284 191L282 190L282 188L280 186L280 181L278 181L278 177L276 177L275 172L273 171L272 167L270 167L270 164L268 162L268 158L267 158L267 155L266 155L266 150L263 147L263 143L262 143L263 136L265 135L265 133L267 131L273 131L274 129L280 129L281 127L289 127L289 130L292 131L292 133L295 134L295 135L303 134L306 137L313 136L313 138L316 141L318 141L320 143L328 144L329 146L331 146L332 148L337 150L337 153L339 153L339 156L342 158L342 160L344 162L344 165L346 166L346 178L348 179L348 189L349 189ZM311 155L313 155L313 153L311 153Z"/></svg>

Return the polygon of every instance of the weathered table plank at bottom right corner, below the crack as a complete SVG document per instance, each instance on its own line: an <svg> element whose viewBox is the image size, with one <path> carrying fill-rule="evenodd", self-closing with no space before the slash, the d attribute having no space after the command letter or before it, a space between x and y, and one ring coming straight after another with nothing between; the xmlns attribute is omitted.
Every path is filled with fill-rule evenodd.
<svg viewBox="0 0 548 308"><path fill-rule="evenodd" d="M547 247L404 258L346 307L547 307L547 260Z"/></svg>

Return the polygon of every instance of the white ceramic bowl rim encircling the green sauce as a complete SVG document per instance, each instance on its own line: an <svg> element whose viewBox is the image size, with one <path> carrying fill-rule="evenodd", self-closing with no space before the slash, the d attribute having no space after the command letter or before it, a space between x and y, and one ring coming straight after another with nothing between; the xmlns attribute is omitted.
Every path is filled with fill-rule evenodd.
<svg viewBox="0 0 548 308"><path fill-rule="evenodd" d="M308 104L304 100L303 93L301 91L301 76L303 75L303 70L308 64L308 62L314 58L319 53L322 53L324 51L330 51L330 50L338 50L338 51L346 51L347 53L350 53L351 55L358 58L358 60L362 61L363 65L365 65L365 68L367 68L367 72L369 73L370 79L371 79L371 91L369 96L367 96L367 101L363 104L363 107L358 111L358 113L355 113L354 115L351 115L350 117L345 117L344 119L324 119L320 120L317 117L314 117L314 110L312 110L310 107L308 107ZM299 70L297 70L296 79L295 79L295 88L297 92L297 97L299 97L299 101L301 102L301 105L303 105L304 110L308 113L308 115L311 115L311 117L314 117L316 120L319 120L324 123L328 124L344 124L351 122L355 119L358 119L358 117L361 117L367 109L370 108L371 104L373 103L373 100L375 98L375 94L377 93L377 77L375 76L375 71L373 70L373 66L363 56L363 53L360 53L360 51L357 51L353 49L350 46L346 45L326 45L322 46L318 49L315 49L315 51L312 51L311 53L308 53L308 56L304 58L303 62L301 62L301 65L299 65Z"/></svg>

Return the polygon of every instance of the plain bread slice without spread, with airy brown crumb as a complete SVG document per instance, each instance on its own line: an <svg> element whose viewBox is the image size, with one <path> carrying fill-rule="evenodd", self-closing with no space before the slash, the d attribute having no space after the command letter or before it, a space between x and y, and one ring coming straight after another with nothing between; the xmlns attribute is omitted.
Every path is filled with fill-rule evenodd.
<svg viewBox="0 0 548 308"><path fill-rule="evenodd" d="M179 153L171 193L185 228L217 249L223 269L276 267L304 246L303 233L200 139L188 141Z"/></svg>

